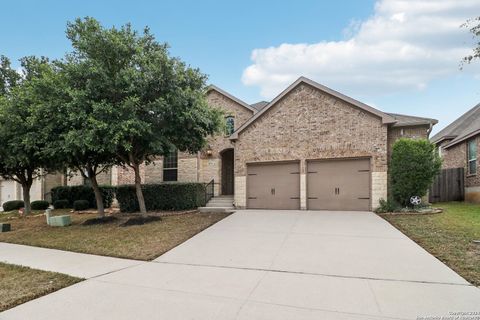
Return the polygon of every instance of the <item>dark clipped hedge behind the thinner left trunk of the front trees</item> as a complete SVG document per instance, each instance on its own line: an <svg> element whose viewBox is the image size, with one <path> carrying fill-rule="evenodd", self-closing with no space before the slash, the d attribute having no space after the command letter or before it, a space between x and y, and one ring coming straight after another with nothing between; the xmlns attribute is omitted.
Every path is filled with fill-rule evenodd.
<svg viewBox="0 0 480 320"><path fill-rule="evenodd" d="M115 198L116 188L113 186L100 186L103 195L103 205L105 208L112 206L113 198ZM95 193L90 186L59 186L52 188L52 202L58 200L67 200L68 207L72 208L76 200L87 200L90 208L97 208L95 202Z"/></svg>

